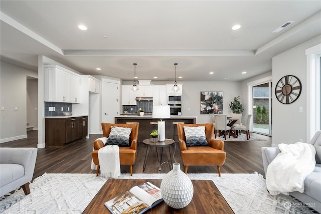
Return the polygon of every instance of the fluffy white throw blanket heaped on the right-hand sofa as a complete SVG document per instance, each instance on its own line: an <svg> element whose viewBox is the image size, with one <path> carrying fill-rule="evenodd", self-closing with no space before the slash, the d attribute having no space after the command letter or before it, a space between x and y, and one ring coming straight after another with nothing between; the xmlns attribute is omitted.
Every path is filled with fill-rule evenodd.
<svg viewBox="0 0 321 214"><path fill-rule="evenodd" d="M304 191L304 179L315 166L315 148L308 143L279 144L280 153L268 165L266 187L272 195Z"/></svg>

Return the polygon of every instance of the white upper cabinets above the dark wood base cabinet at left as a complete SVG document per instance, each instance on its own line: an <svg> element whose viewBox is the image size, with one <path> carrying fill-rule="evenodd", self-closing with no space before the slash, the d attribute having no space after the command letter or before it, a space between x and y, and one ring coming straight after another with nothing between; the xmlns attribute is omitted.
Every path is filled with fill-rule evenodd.
<svg viewBox="0 0 321 214"><path fill-rule="evenodd" d="M45 101L80 103L80 75L57 65L45 65Z"/></svg>

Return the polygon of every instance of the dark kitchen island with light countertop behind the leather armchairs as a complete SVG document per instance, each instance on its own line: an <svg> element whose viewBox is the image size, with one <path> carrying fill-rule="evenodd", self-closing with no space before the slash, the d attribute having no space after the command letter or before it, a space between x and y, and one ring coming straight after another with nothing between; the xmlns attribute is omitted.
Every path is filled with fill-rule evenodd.
<svg viewBox="0 0 321 214"><path fill-rule="evenodd" d="M165 121L165 137L172 139L174 134L173 122L184 122L184 123L196 123L197 117L183 117L183 116L171 116L171 118L163 119ZM142 142L144 139L149 138L149 133L152 131L152 125L150 122L157 122L160 119L152 118L151 116L118 116L115 117L115 123L126 123L126 122L138 122L138 142ZM157 129L157 126L155 127Z"/></svg>

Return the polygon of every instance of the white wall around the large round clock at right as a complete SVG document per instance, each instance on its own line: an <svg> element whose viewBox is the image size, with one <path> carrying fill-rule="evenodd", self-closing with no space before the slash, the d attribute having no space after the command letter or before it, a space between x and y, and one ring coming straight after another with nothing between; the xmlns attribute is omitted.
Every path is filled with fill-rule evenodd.
<svg viewBox="0 0 321 214"><path fill-rule="evenodd" d="M295 143L306 141L306 56L305 49L319 44L321 36L304 42L294 48L285 51L272 59L272 81L277 81L285 75L298 77L302 84L299 98L291 104L282 104L273 100L272 144ZM273 92L275 86L273 87ZM299 112L303 107L303 112Z"/></svg>

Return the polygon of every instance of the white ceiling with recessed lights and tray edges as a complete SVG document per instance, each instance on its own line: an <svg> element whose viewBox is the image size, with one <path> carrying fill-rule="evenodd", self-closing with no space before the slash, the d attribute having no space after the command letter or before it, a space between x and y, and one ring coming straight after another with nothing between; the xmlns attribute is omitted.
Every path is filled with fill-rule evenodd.
<svg viewBox="0 0 321 214"><path fill-rule="evenodd" d="M3 61L37 71L44 55L124 81L133 80L133 63L138 80L174 81L178 63L178 83L241 81L321 35L321 1L1 0L0 10ZM271 33L287 21L294 23ZM232 31L235 24L242 28Z"/></svg>

